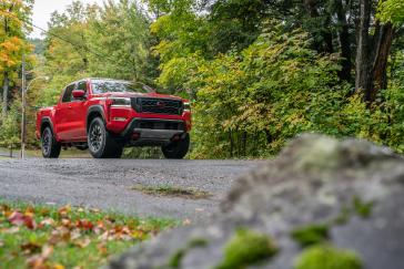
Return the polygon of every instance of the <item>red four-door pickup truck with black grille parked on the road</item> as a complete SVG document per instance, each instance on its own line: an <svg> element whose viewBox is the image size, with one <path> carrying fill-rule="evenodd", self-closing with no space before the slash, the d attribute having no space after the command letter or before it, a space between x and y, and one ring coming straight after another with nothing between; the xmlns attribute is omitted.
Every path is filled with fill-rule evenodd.
<svg viewBox="0 0 404 269"><path fill-rule="evenodd" d="M161 146L166 158L183 158L190 131L186 100L142 83L84 79L69 84L57 105L38 111L36 135L46 158L72 146L95 158L119 158L127 146Z"/></svg>

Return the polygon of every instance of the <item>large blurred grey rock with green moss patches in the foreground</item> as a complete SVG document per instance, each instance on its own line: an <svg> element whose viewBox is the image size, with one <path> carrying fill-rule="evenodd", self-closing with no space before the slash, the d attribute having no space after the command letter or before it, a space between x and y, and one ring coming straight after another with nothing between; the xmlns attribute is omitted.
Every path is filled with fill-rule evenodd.
<svg viewBox="0 0 404 269"><path fill-rule="evenodd" d="M209 225L163 232L109 268L404 268L404 159L302 135L241 177Z"/></svg>

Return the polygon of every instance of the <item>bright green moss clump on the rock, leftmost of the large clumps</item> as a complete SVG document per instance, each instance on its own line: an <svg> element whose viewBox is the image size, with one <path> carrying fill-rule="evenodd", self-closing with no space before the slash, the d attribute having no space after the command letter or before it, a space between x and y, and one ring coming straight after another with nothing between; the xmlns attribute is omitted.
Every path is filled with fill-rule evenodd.
<svg viewBox="0 0 404 269"><path fill-rule="evenodd" d="M273 257L277 252L273 240L263 234L239 229L224 248L224 259L216 269L244 268Z"/></svg>

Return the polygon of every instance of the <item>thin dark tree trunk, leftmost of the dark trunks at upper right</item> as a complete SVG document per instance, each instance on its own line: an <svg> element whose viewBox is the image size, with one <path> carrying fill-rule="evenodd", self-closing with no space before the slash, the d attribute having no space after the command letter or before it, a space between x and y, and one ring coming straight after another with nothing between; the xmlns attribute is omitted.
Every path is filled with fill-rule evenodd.
<svg viewBox="0 0 404 269"><path fill-rule="evenodd" d="M346 12L344 11L342 0L336 0L336 15L340 23L339 39L341 46L341 65L342 69L339 72L339 76L341 81L350 82L352 80L351 70L352 70L352 51L351 51L351 42L350 42L350 27L346 21Z"/></svg>

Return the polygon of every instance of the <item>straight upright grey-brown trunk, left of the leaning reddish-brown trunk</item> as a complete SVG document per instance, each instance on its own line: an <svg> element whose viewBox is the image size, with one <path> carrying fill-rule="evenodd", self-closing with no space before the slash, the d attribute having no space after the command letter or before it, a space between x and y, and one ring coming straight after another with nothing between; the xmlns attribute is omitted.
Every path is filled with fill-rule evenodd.
<svg viewBox="0 0 404 269"><path fill-rule="evenodd" d="M372 92L372 56L368 28L371 22L372 0L360 0L360 25L356 48L355 91L365 93L364 101L371 101Z"/></svg>

